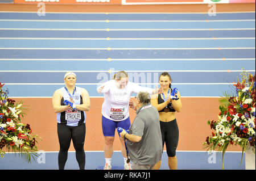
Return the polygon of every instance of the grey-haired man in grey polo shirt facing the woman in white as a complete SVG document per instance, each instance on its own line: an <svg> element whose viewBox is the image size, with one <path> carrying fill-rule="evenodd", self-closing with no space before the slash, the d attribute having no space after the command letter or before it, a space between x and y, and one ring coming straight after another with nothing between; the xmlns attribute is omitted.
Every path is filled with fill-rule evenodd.
<svg viewBox="0 0 256 181"><path fill-rule="evenodd" d="M151 170L161 160L163 153L159 113L151 105L148 92L139 92L135 99L137 116L129 133L123 129L120 135L127 139L133 170Z"/></svg>

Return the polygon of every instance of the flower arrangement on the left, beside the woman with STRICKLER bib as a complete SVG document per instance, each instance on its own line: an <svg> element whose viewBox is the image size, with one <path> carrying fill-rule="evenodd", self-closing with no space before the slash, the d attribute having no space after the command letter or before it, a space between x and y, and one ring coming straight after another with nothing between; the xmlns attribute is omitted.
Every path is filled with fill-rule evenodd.
<svg viewBox="0 0 256 181"><path fill-rule="evenodd" d="M32 129L29 124L20 122L23 117L22 102L16 103L9 99L9 90L3 90L4 84L0 82L0 155L3 158L5 150L19 153L22 158L31 162L37 154L36 138L32 135ZM34 158L35 159L35 158Z"/></svg>

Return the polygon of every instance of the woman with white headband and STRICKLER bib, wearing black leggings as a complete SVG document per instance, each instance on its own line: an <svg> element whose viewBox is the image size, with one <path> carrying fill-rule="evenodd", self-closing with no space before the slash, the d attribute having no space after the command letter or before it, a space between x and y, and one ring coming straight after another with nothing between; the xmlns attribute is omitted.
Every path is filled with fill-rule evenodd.
<svg viewBox="0 0 256 181"><path fill-rule="evenodd" d="M90 109L88 92L81 87L76 87L76 74L67 72L64 75L65 87L54 92L52 105L57 113L57 134L60 143L58 155L59 169L63 170L68 158L68 149L73 141L76 150L76 160L80 170L85 169L85 120L86 113ZM64 100L73 103L71 107L64 104Z"/></svg>

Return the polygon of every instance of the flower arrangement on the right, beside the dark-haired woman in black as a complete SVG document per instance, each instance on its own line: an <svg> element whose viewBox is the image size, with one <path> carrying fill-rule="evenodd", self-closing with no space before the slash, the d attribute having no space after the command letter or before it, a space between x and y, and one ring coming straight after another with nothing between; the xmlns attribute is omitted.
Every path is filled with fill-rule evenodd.
<svg viewBox="0 0 256 181"><path fill-rule="evenodd" d="M225 92L220 100L220 113L217 121L208 121L212 136L206 138L205 149L222 151L222 169L224 154L229 145L240 145L243 152L250 146L255 153L255 74L248 74L244 69L241 81L234 84L233 96ZM241 159L242 166L242 159Z"/></svg>

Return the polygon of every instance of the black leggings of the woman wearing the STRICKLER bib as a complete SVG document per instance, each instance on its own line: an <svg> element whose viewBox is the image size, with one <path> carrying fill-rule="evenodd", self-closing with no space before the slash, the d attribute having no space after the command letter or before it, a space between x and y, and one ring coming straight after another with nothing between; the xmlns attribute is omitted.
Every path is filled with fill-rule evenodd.
<svg viewBox="0 0 256 181"><path fill-rule="evenodd" d="M57 133L60 143L60 151L58 155L59 169L63 170L68 158L68 149L73 141L74 148L76 150L76 160L79 163L80 170L85 169L85 152L84 152L84 140L85 140L85 124L77 127L69 127L67 125L57 124Z"/></svg>

